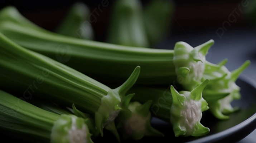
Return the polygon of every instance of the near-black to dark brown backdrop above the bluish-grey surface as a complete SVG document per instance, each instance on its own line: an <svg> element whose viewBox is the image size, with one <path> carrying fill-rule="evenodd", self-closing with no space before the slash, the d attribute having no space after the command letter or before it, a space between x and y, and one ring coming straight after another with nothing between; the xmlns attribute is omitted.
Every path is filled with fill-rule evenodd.
<svg viewBox="0 0 256 143"><path fill-rule="evenodd" d="M103 6L102 2L107 1L107 6ZM96 9L95 16L97 21L91 23L95 31L97 41L104 41L110 17L111 7L115 0L83 0L91 9L91 12ZM141 0L143 5L146 5L148 0ZM58 23L66 15L68 8L76 1L54 1L54 0L1 0L0 8L7 5L13 5L26 18L33 21L35 24L53 31ZM81 0L80 0L81 2ZM193 35L197 33L213 32L222 26L222 23L228 20L228 16L232 11L241 6L241 0L175 0L175 13L172 15L172 25L170 37L176 35ZM99 10L102 10L102 12ZM252 29L250 21L245 19L243 13L237 9L240 16L236 16L236 23L231 26L226 25L228 30ZM221 31L219 31L221 34ZM225 34L225 33L224 33ZM217 34L216 34L217 36ZM223 35L224 36L224 35Z"/></svg>

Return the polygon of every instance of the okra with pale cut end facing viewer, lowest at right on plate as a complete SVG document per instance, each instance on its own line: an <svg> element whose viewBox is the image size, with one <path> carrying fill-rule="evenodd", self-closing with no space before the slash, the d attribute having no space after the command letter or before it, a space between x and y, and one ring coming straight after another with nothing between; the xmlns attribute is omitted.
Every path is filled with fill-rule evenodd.
<svg viewBox="0 0 256 143"><path fill-rule="evenodd" d="M202 92L209 80L205 80L191 92L170 88L133 87L130 92L136 92L132 100L146 103L152 100L150 108L154 116L171 122L175 136L202 136L209 133L200 120L202 112L208 110L208 103L202 98ZM170 90L171 89L171 90Z"/></svg>

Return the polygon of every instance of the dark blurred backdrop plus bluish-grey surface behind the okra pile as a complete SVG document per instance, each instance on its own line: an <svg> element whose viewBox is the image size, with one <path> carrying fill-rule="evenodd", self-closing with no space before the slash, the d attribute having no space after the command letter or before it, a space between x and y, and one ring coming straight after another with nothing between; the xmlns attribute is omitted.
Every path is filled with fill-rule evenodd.
<svg viewBox="0 0 256 143"><path fill-rule="evenodd" d="M108 29L116 0L1 0L0 8L12 5L27 19L50 31L56 31L75 2L86 4L90 15L86 20L93 29L93 40L108 42ZM141 0L142 9L150 0ZM243 72L244 77L256 82L256 15L255 0L173 0L172 6L162 4L166 10L168 28L156 42L149 40L150 48L173 49L177 41L185 41L195 47L213 39L207 60L217 64L227 58L229 70L235 70L246 60L251 65ZM254 9L253 9L254 7ZM113 17L112 17L113 18ZM114 18L115 19L115 18ZM113 19L112 19L113 20ZM144 21L147 23L148 21ZM255 143L256 131L239 143Z"/></svg>

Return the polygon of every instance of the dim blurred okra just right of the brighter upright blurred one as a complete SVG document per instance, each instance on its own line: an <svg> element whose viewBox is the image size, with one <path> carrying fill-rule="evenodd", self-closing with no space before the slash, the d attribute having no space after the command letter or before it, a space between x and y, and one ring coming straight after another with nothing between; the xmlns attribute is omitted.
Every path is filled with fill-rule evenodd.
<svg viewBox="0 0 256 143"><path fill-rule="evenodd" d="M170 0L151 0L144 9L144 24L151 44L168 34L174 3Z"/></svg>

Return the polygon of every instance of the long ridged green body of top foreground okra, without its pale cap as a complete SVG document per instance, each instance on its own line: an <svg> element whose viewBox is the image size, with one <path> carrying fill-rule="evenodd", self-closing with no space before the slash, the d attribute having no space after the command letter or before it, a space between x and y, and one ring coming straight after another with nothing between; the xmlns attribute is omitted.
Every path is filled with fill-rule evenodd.
<svg viewBox="0 0 256 143"><path fill-rule="evenodd" d="M102 83L124 82L131 68L137 65L142 67L137 83L169 84L176 79L173 50L73 39L50 32L40 33L9 21L0 22L0 31L24 48L58 60Z"/></svg>

